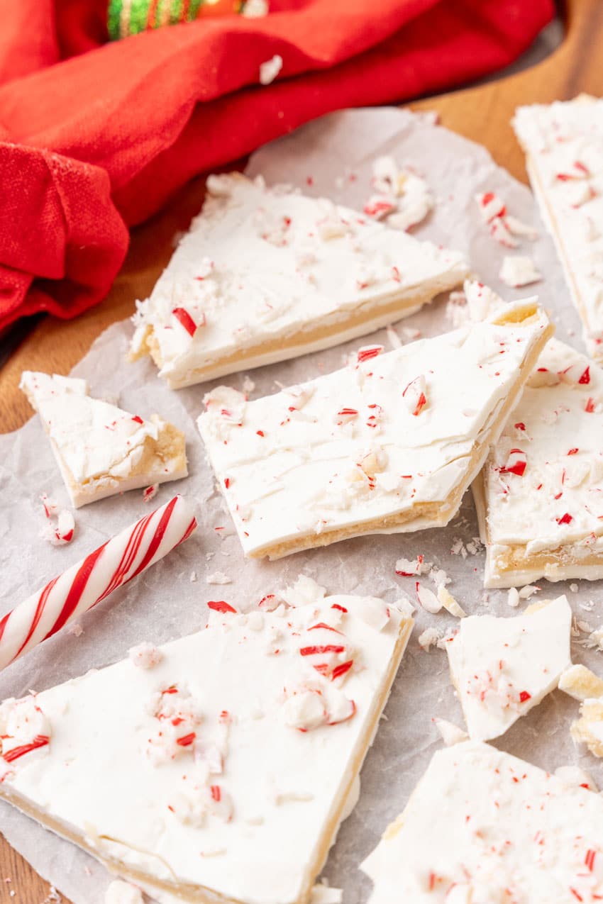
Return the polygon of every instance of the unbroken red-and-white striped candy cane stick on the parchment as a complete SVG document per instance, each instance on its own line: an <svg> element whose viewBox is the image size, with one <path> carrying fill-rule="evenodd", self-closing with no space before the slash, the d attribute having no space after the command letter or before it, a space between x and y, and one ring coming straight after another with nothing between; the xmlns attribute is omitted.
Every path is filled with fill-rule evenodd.
<svg viewBox="0 0 603 904"><path fill-rule="evenodd" d="M163 559L197 523L182 496L147 514L0 619L0 669Z"/></svg>

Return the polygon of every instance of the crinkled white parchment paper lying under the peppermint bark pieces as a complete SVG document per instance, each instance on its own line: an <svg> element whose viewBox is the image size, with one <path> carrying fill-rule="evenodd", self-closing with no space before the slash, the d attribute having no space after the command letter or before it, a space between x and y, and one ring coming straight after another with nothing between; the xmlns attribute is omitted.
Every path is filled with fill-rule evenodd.
<svg viewBox="0 0 603 904"><path fill-rule="evenodd" d="M362 207L371 193L372 160L381 154L394 155L400 163L415 166L436 194L436 210L416 231L419 238L463 251L480 277L507 298L533 292L532 287L515 292L500 283L497 274L504 254L531 255L545 275L533 288L553 313L558 335L584 350L578 315L532 194L496 167L482 147L437 127L433 118L419 118L390 108L336 113L260 149L251 158L248 172L264 174L269 184L297 184L307 193ZM474 202L478 191L499 193L510 212L536 224L539 240L524 241L516 252L504 250L481 222ZM397 329L403 341L404 328L410 326L419 328L424 335L450 329L446 298L401 321ZM140 641L162 643L188 634L203 626L205 603L216 598L216 594L239 607L249 607L266 593L296 579L302 570L332 592L370 593L391 601L407 593L412 599L412 580L398 578L394 565L400 556L413 559L422 553L426 560L448 572L452 579L448 589L468 613L517 613L507 605L506 591L490 591L485 602L483 553L469 554L464 559L450 552L457 537L466 543L477 535L470 493L466 494L457 519L444 530L360 538L272 563L244 561L221 497L214 492L203 444L194 426L208 384L183 391L167 390L151 363L126 362L130 334L127 322L111 326L74 373L90 381L93 395L116 397L125 408L145 417L157 411L184 430L191 476L161 487L151 505L163 504L176 491L186 494L196 501L199 531L83 617L81 636L63 630L1 673L0 699L21 695L30 688L41 691L91 667L115 662ZM390 346L388 335L382 330L367 340L250 372L250 379L255 382L250 397L276 391L276 381L287 385L333 371L341 366L344 354L373 339ZM243 374L237 374L219 382L241 388L243 378ZM45 492L62 505L68 504L68 498L37 418L14 434L0 437L0 463L0 616L148 511L140 491L89 505L77 513L74 541L69 546L53 548L38 538L42 524L39 496ZM222 525L227 527L224 539L213 530ZM229 575L232 583L219 588L208 586L206 576L216 571ZM196 581L191 580L193 572ZM431 586L429 579L426 582ZM542 581L541 586L541 598L567 592L580 620L588 621L593 628L603 623L601 582L582 581L578 592L570 591L565 582L552 585ZM580 604L588 604L589 600L594 600L595 606L587 612ZM400 813L431 754L441 744L432 717L463 724L448 678L446 654L438 649L428 653L419 647L417 638L428 626L452 628L457 626L457 620L446 613L430 616L421 609L417 611L416 627L394 683L386 717L363 768L360 802L343 824L325 868L331 884L344 889L345 904L361 904L367 899L370 882L358 871L358 863L372 850L385 826ZM573 654L576 662L603 672L603 654L585 650L578 640L573 644ZM580 756L571 742L570 720L576 712L577 704L570 698L561 692L552 693L519 720L497 746L550 769L579 763L598 779L599 786L603 785L603 768L598 761L589 755ZM110 782L111 777L96 776L93 780ZM88 855L5 803L0 803L0 827L7 840L74 904L99 904L103 899L108 873ZM18 895L18 888L16 892Z"/></svg>

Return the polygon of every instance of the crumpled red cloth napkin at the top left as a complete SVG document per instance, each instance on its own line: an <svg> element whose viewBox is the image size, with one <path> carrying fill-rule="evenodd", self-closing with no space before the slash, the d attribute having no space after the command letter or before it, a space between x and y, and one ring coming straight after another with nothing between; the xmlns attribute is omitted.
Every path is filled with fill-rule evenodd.
<svg viewBox="0 0 603 904"><path fill-rule="evenodd" d="M107 0L16 0L0 28L0 328L108 292L127 227L193 175L330 110L513 60L552 0L271 0L108 42ZM278 80L259 65L283 58Z"/></svg>

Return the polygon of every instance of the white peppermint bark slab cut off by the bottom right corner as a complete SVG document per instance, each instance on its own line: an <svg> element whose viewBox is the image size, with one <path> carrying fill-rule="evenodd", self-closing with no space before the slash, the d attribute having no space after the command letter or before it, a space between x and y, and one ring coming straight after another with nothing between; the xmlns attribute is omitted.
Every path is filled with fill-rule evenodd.
<svg viewBox="0 0 603 904"><path fill-rule="evenodd" d="M603 799L479 741L438 750L361 869L369 904L594 902Z"/></svg>

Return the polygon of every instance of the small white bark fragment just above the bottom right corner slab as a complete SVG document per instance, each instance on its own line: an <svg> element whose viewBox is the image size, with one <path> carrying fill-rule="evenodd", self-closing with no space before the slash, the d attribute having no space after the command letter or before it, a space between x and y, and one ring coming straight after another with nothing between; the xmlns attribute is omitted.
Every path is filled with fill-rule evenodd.
<svg viewBox="0 0 603 904"><path fill-rule="evenodd" d="M471 739L498 738L557 687L570 665L570 631L565 597L512 618L461 621L446 652Z"/></svg>

